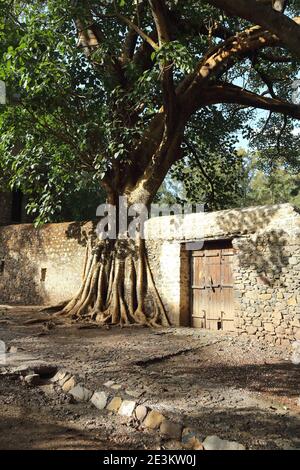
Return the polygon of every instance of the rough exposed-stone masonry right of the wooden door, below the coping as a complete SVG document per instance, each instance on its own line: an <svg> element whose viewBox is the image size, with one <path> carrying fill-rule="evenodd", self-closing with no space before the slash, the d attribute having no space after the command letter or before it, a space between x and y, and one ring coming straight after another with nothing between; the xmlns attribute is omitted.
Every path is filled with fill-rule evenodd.
<svg viewBox="0 0 300 470"><path fill-rule="evenodd" d="M272 230L235 240L236 328L269 342L300 339L300 236Z"/></svg>

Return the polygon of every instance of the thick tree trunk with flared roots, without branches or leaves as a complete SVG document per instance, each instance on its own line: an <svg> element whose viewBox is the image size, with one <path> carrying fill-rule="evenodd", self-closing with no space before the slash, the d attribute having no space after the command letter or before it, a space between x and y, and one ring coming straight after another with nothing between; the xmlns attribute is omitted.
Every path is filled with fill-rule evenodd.
<svg viewBox="0 0 300 470"><path fill-rule="evenodd" d="M180 157L182 122L177 123L171 136L164 128L164 120L160 118L155 132L152 129L147 134L143 144L149 152L147 158L144 149L143 158L141 152L132 159L129 173L128 168L119 166L105 179L108 202L116 206L117 213L120 190L128 205L149 207L172 163ZM127 233L126 236L120 233L118 214L116 225L116 240L97 240L93 247L90 244L80 290L59 314L92 319L100 324L169 325L151 272L145 240L141 233L134 240Z"/></svg>

